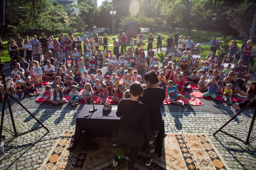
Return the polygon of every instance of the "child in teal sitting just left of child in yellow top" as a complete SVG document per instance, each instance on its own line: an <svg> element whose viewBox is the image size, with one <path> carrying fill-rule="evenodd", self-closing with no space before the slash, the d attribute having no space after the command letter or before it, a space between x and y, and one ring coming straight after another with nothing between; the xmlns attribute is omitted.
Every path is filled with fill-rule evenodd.
<svg viewBox="0 0 256 170"><path fill-rule="evenodd" d="M220 85L217 83L217 77L213 76L211 81L206 83L205 87L208 87L208 92L203 94L203 97L212 97L212 99L216 99L216 91L220 89Z"/></svg>

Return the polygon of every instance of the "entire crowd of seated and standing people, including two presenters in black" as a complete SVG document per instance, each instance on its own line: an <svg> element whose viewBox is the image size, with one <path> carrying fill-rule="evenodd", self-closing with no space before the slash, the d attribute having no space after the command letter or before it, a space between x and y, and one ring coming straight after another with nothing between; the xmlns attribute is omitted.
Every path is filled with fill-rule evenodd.
<svg viewBox="0 0 256 170"><path fill-rule="evenodd" d="M114 55L108 61L107 74L111 71L112 73L104 76L101 68L106 60L104 51L108 50L108 46L104 46L104 51L99 49L97 34L95 37L91 35L90 38L84 35L82 42L80 37L75 40L72 32L69 33L71 34L66 37L61 33L58 40L52 36L47 39L44 33L41 34L40 39L34 35L32 39L27 36L23 40L19 34L16 39L9 38L9 52L23 47L24 57L21 57L20 62L13 67L11 77L14 82L7 91L17 99L23 98L25 94L38 96L40 93L37 88L43 87L43 79L54 79L51 85L44 86L44 99L40 104L64 104L67 101L66 94L69 96L68 103L74 107L79 104L79 101L92 104L95 97L100 98L99 104L104 104L111 97L113 102L119 103L116 115L129 122L121 124L120 128L123 135L120 137L121 142L124 143L123 147L132 147L130 155L124 155L129 160L129 170L133 168L139 148L145 142L148 144L146 165L151 164L156 136L162 124L160 107L163 107L165 98L169 97L169 102L182 107L184 107L184 102L192 106L193 104L183 95L184 91L192 91L190 84L196 85L203 93L203 97L216 99L217 94L222 95L224 102L232 104L236 110L244 108L250 100L256 97L256 81L250 83L247 93L243 91L247 89L246 83L252 77L248 74L247 65L244 64L250 61L251 40L245 41L241 49L243 55L238 65L232 68L236 52L239 50L235 40L229 46L229 53L220 66L216 57L216 50L219 46L216 36L210 42L211 51L206 61L202 62L198 57L201 51L200 44L194 46L191 36L188 36L188 40L184 40L184 36L181 35L179 39L179 32L177 32L174 40L172 34L166 40L168 54L160 63L152 50L154 42L152 34L149 35L148 52L145 54L144 35L140 33L136 40L132 38L128 41L127 36L121 30L117 37L118 40L113 38ZM162 52L163 38L160 33L156 39L157 52L158 49ZM103 43L108 44L109 41L107 34L104 34ZM84 51L82 51L82 43ZM126 50L128 43L130 47ZM44 71L38 61L32 60L32 54L44 56ZM193 55L197 57L193 58ZM178 58L176 62L174 62L175 56ZM66 58L78 58L72 69L67 70L64 65ZM128 64L129 58L135 58L133 65ZM94 71L96 74L92 73ZM89 75L88 72L91 74ZM3 90L1 85L1 95ZM240 104L234 104L232 97L237 97L237 94L245 96L246 100ZM184 102L178 101L180 99ZM134 110L135 108L137 109ZM131 117L136 117L136 119L131 119ZM156 120L159 124L155 123ZM132 127L134 124L137 124L136 127ZM138 139L141 140L131 142L131 134L128 131L131 128L142 132L138 135ZM141 137L144 135L145 140ZM117 164L118 158L115 157L113 165L117 166Z"/></svg>

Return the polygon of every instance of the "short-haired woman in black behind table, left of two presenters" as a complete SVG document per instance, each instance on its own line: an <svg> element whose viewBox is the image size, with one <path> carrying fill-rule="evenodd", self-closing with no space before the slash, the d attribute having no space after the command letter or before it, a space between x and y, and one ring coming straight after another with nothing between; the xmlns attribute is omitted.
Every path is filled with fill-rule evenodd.
<svg viewBox="0 0 256 170"><path fill-rule="evenodd" d="M143 87L139 82L134 82L130 86L130 98L121 99L116 116L121 117L119 139L121 148L130 147L130 153L125 153L124 158L128 160L128 170L133 170L140 147L149 141L148 107L138 101L143 94ZM115 155L113 166L117 166L122 155Z"/></svg>

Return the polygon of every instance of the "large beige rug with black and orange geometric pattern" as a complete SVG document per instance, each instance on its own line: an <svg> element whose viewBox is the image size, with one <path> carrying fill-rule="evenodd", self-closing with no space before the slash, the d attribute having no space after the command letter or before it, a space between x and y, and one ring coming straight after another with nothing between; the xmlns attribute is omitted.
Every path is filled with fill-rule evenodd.
<svg viewBox="0 0 256 170"><path fill-rule="evenodd" d="M74 131L63 131L40 170L127 170L128 161L120 159L117 167L112 166L114 149L107 137L93 138L100 145L96 151L84 151L80 147L72 151L70 145ZM164 139L164 154L153 156L151 166L145 166L144 152L140 151L135 167L140 170L230 170L208 135L167 134Z"/></svg>

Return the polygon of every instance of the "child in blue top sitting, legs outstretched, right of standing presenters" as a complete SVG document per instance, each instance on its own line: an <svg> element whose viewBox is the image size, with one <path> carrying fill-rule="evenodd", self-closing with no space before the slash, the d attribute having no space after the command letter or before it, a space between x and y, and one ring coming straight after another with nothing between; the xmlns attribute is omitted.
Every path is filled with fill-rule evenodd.
<svg viewBox="0 0 256 170"><path fill-rule="evenodd" d="M192 106L193 104L190 103L180 92L177 90L176 86L173 85L173 81L169 80L168 87L165 90L165 97L169 95L170 99L169 102L173 104L180 104L181 106L184 106L183 102L178 102L177 100L183 99L185 102L188 103L189 106Z"/></svg>

